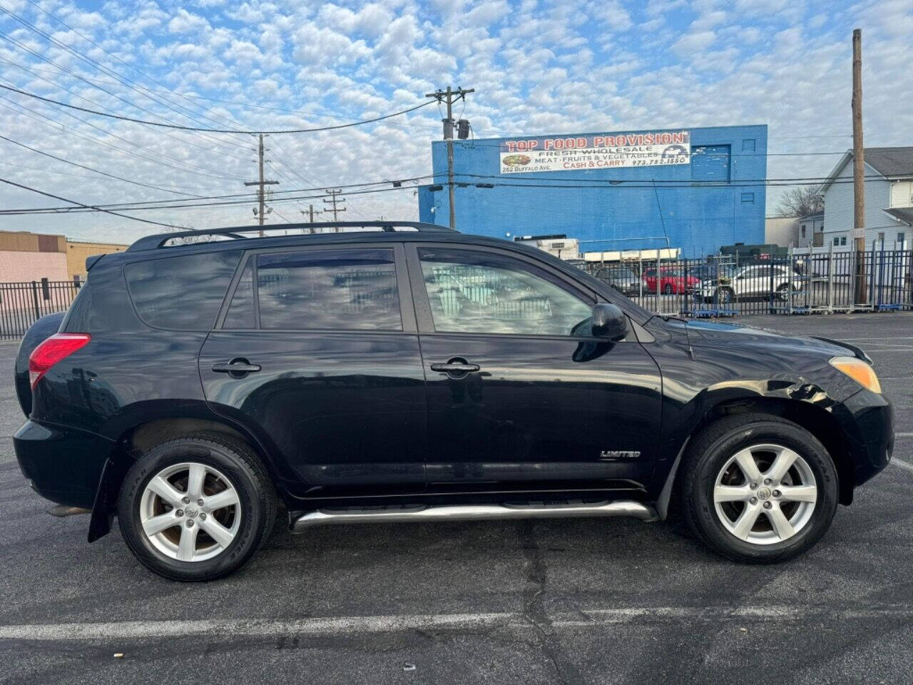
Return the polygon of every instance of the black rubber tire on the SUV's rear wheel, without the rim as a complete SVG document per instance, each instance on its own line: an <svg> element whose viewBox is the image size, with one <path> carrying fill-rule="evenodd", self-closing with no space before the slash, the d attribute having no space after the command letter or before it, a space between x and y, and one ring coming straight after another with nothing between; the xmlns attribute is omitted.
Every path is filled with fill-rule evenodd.
<svg viewBox="0 0 913 685"><path fill-rule="evenodd" d="M203 561L186 562L167 556L153 546L142 530L140 508L146 485L163 469L185 461L201 463L224 474L240 501L240 522L234 540ZM199 432L163 442L133 464L121 485L118 522L133 555L152 572L169 580L209 581L236 571L266 542L276 520L276 506L276 490L253 450L233 437Z"/></svg>

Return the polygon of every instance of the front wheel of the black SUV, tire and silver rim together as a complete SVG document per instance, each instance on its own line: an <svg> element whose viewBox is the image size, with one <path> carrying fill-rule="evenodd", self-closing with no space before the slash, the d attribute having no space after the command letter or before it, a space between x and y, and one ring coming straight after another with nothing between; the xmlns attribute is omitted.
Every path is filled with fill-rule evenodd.
<svg viewBox="0 0 913 685"><path fill-rule="evenodd" d="M836 511L837 475L803 427L778 416L730 416L689 448L681 495L688 525L711 549L770 564L824 535Z"/></svg>

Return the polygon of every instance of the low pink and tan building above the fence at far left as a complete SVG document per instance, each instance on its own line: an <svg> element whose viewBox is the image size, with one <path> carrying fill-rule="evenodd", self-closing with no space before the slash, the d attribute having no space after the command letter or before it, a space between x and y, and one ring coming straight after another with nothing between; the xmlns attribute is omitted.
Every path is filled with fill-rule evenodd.
<svg viewBox="0 0 913 685"><path fill-rule="evenodd" d="M69 242L64 236L0 231L0 283L85 279L87 257L125 249L126 245Z"/></svg>

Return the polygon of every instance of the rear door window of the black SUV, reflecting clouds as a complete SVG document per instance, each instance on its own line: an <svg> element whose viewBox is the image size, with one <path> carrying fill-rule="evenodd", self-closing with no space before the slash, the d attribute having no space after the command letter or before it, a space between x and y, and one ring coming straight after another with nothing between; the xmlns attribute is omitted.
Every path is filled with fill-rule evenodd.
<svg viewBox="0 0 913 685"><path fill-rule="evenodd" d="M391 249L258 255L257 301L261 329L403 330Z"/></svg>

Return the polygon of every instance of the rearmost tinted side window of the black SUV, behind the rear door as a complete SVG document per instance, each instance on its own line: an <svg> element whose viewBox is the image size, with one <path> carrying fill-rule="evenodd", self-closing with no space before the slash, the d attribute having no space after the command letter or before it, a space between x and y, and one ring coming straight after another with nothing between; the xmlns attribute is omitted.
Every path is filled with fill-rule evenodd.
<svg viewBox="0 0 913 685"><path fill-rule="evenodd" d="M209 331L222 306L240 250L133 262L124 268L143 323L171 331Z"/></svg>

